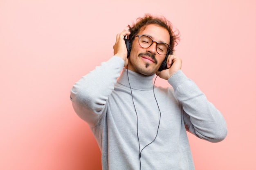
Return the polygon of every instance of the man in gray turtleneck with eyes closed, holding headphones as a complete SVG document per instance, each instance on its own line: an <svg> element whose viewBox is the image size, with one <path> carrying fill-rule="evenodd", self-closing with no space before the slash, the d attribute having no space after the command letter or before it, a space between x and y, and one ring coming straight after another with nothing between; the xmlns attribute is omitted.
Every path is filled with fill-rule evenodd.
<svg viewBox="0 0 256 170"><path fill-rule="evenodd" d="M220 142L225 120L182 72L170 22L145 15L129 28L117 35L114 56L73 86L74 110L97 139L104 170L194 169L186 131ZM155 74L170 87L155 87Z"/></svg>

